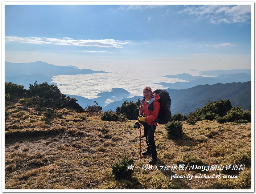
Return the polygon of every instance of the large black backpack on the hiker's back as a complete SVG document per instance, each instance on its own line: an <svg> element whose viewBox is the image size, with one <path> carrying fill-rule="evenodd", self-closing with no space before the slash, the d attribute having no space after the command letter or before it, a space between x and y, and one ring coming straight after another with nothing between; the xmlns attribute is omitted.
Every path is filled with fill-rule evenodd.
<svg viewBox="0 0 256 194"><path fill-rule="evenodd" d="M171 98L169 92L162 89L156 89L155 91L153 91L153 94L158 94L160 96L160 99L158 100L158 102L160 103L158 117L153 122L158 122L159 124L167 124L168 121L171 119ZM142 99L142 104L144 100L145 97Z"/></svg>

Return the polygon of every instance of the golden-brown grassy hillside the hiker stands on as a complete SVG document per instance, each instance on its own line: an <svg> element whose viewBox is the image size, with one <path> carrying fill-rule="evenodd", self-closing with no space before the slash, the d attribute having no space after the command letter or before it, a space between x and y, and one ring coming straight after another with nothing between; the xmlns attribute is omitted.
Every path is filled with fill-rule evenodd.
<svg viewBox="0 0 256 194"><path fill-rule="evenodd" d="M159 166L177 164L245 164L236 171L141 170L139 129L133 120L102 121L102 113L56 109L21 110L13 100L5 106L5 189L250 189L251 123L198 121L183 123L181 139L169 139L165 125L157 126L155 140ZM142 129L143 131L143 129ZM143 132L142 132L143 135ZM142 149L146 147L142 139ZM130 180L115 180L111 166L125 156L134 160ZM160 168L158 168L160 169ZM172 179L173 175L237 175L237 179Z"/></svg>

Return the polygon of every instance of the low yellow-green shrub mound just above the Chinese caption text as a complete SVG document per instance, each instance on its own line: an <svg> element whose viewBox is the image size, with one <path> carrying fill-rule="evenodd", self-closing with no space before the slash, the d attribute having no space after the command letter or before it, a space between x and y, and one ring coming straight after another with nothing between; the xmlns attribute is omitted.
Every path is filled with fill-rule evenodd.
<svg viewBox="0 0 256 194"><path fill-rule="evenodd" d="M198 158L196 155L192 153L184 153L176 160L176 164L196 164L197 166L206 166L204 160Z"/></svg>

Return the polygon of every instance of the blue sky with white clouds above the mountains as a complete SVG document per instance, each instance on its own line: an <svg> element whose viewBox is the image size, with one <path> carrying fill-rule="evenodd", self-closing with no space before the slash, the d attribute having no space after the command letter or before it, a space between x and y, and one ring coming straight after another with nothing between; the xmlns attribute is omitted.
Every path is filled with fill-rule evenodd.
<svg viewBox="0 0 256 194"><path fill-rule="evenodd" d="M251 5L5 5L5 61L250 68Z"/></svg>

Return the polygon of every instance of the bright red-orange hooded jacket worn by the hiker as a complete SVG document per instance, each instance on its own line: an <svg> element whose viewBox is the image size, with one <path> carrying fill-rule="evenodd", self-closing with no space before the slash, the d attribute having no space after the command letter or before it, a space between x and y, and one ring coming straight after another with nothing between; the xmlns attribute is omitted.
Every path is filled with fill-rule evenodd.
<svg viewBox="0 0 256 194"><path fill-rule="evenodd" d="M140 105L140 108L139 108L139 115L143 115L145 117L145 122L148 124L148 125L151 125L150 123L152 121L154 121L157 116L158 116L158 113L159 113L159 108L160 108L160 103L158 102L158 100L160 99L159 95L158 94L154 94L154 97L151 98L149 100L149 102L151 102L152 100L153 101L153 108L154 110L153 111L150 111L148 110L147 107L150 106L150 103L148 102L144 102L143 105L142 105L142 102L141 102L141 105ZM142 107L142 108L141 108ZM143 114L142 114L143 113ZM157 125L157 122L153 122L153 125Z"/></svg>

